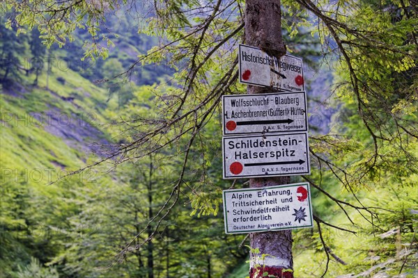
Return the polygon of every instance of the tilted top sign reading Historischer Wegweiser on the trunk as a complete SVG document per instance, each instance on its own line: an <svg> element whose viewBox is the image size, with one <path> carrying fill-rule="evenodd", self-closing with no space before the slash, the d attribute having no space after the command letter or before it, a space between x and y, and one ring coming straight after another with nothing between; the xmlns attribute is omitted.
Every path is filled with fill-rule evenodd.
<svg viewBox="0 0 418 278"><path fill-rule="evenodd" d="M258 47L245 44L240 44L238 50L240 83L286 92L304 90L301 58L285 55L277 59Z"/></svg>

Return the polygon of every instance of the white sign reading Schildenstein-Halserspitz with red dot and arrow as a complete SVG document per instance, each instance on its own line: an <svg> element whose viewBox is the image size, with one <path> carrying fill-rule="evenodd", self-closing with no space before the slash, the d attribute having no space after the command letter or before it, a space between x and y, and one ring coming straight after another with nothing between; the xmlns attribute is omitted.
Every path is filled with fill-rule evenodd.
<svg viewBox="0 0 418 278"><path fill-rule="evenodd" d="M309 174L307 133L222 138L224 179Z"/></svg>

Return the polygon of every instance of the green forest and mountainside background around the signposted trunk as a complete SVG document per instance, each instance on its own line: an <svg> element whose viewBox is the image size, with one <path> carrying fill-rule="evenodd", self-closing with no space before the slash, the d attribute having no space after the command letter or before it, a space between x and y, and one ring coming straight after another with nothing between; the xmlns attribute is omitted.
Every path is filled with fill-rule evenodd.
<svg viewBox="0 0 418 278"><path fill-rule="evenodd" d="M222 180L219 96L245 93L245 3L76 2L50 26L1 7L1 277L244 277L221 193L248 182ZM414 277L417 6L300 2L283 33L305 62L314 170L292 181L311 183L316 226L293 232L295 275Z"/></svg>

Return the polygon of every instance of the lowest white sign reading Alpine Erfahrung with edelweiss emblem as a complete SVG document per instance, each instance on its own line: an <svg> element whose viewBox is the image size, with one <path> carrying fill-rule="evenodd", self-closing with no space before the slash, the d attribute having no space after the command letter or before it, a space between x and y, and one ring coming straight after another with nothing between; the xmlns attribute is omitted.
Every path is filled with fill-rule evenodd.
<svg viewBox="0 0 418 278"><path fill-rule="evenodd" d="M226 234L312 227L309 183L224 190Z"/></svg>

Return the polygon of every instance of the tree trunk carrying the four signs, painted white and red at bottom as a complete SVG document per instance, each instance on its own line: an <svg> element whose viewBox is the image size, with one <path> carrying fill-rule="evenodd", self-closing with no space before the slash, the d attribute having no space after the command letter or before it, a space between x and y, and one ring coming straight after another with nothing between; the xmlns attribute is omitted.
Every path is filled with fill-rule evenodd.
<svg viewBox="0 0 418 278"><path fill-rule="evenodd" d="M245 6L245 44L260 47L270 56L277 58L286 54L286 47L281 36L281 10L279 0L247 0ZM248 94L272 92L269 88L249 85ZM277 186L289 183L290 177L250 179L251 188ZM252 233L250 246L260 250L251 253L250 278L293 277L292 233L291 230L265 233ZM264 256L263 256L264 254ZM268 277L268 275L266 277Z"/></svg>

